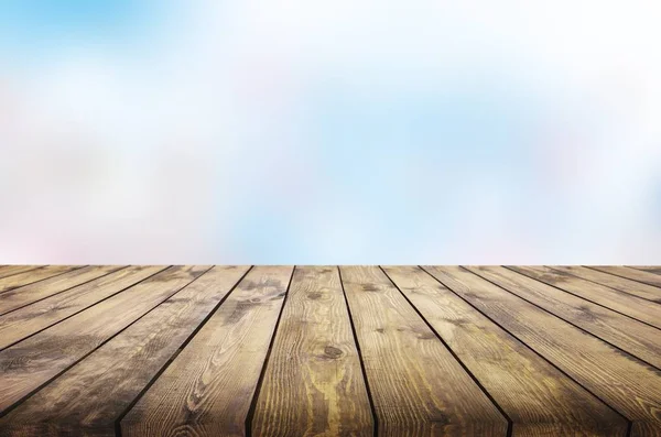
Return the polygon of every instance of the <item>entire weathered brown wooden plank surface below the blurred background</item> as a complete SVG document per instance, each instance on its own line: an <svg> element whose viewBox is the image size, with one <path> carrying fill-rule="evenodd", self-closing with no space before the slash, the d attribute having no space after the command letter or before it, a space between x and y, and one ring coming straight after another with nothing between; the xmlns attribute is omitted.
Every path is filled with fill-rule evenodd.
<svg viewBox="0 0 661 437"><path fill-rule="evenodd" d="M0 266L0 437L661 436L659 273Z"/></svg>

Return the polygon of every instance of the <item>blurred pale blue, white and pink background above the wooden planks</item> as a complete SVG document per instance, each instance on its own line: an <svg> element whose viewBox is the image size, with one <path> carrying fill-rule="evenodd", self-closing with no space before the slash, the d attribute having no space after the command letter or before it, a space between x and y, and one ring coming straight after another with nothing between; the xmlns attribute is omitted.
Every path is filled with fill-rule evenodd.
<svg viewBox="0 0 661 437"><path fill-rule="evenodd" d="M660 22L2 0L0 263L661 264Z"/></svg>

